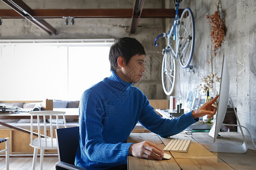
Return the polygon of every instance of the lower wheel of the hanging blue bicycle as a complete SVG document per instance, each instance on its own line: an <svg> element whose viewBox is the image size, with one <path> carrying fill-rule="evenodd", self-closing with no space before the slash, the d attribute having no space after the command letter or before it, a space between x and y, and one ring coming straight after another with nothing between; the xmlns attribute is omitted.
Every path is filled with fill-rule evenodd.
<svg viewBox="0 0 256 170"><path fill-rule="evenodd" d="M162 62L162 86L166 95L171 95L174 91L176 78L175 59L171 55L171 52L164 52Z"/></svg>

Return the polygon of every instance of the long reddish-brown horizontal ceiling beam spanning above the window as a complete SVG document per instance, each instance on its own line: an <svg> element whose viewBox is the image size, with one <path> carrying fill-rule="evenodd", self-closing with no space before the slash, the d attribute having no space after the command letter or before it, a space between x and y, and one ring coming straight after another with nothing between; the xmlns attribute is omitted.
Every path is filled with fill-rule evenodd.
<svg viewBox="0 0 256 170"><path fill-rule="evenodd" d="M183 9L179 10L179 16ZM38 9L33 10L33 18L63 18L72 16L75 18L131 18L133 9ZM23 18L14 10L0 9L2 19ZM30 18L30 16L26 16ZM175 18L174 9L166 8L143 8L140 18Z"/></svg>

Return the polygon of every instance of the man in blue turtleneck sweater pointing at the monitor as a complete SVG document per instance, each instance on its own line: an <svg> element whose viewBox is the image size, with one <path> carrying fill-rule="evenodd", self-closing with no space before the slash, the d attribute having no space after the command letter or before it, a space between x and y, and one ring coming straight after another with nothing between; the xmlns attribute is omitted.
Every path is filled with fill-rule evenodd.
<svg viewBox="0 0 256 170"><path fill-rule="evenodd" d="M164 151L154 143L126 143L139 121L145 128L162 137L180 133L199 117L216 108L212 103L173 120L155 113L147 97L133 83L145 71L145 51L136 39L123 37L110 48L112 75L82 94L79 109L80 146L75 164L86 169L127 169L126 157L162 160ZM97 65L96 65L97 66Z"/></svg>

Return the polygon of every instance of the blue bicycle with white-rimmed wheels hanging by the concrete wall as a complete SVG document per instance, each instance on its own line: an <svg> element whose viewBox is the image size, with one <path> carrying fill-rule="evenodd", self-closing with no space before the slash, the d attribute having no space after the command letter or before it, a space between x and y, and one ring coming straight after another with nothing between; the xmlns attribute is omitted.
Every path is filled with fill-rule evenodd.
<svg viewBox="0 0 256 170"><path fill-rule="evenodd" d="M181 0L182 1L182 0ZM189 66L193 56L195 44L195 20L190 8L185 8L179 18L179 3L181 1L174 0L176 15L171 30L162 33L155 39L155 47L158 46L156 40L163 36L167 39L167 46L163 49L162 62L162 86L166 95L171 95L174 91L176 79L175 59L179 59L180 66L184 69L193 69ZM172 47L171 39L175 41L175 48Z"/></svg>

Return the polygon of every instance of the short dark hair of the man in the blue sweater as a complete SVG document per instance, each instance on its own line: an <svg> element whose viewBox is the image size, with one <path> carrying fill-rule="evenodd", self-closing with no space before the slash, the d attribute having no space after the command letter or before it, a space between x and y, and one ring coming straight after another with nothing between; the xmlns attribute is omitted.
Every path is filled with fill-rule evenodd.
<svg viewBox="0 0 256 170"><path fill-rule="evenodd" d="M119 56L125 59L125 63L129 63L131 57L139 55L146 55L143 45L138 40L131 37L122 37L117 39L110 47L109 62L110 69L117 71L117 58Z"/></svg>

